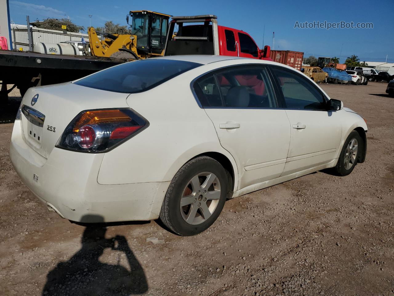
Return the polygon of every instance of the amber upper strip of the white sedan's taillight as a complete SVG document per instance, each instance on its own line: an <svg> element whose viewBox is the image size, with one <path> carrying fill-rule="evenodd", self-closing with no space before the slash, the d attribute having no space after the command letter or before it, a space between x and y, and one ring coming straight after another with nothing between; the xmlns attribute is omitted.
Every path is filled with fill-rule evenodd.
<svg viewBox="0 0 394 296"><path fill-rule="evenodd" d="M74 133L78 133L82 126L100 124L102 122L125 122L131 118L122 110L95 110L87 111L82 114L81 118L74 126Z"/></svg>

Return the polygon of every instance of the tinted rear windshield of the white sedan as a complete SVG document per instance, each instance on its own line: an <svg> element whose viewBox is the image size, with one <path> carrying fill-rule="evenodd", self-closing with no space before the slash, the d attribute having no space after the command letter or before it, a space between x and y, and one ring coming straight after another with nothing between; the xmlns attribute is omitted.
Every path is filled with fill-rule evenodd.
<svg viewBox="0 0 394 296"><path fill-rule="evenodd" d="M75 84L110 92L144 92L201 65L178 60L138 60L94 73Z"/></svg>

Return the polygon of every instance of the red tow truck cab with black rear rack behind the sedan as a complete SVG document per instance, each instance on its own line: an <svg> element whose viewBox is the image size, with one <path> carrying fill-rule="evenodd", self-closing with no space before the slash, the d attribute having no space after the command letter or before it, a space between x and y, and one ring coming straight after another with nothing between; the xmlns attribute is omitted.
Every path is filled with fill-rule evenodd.
<svg viewBox="0 0 394 296"><path fill-rule="evenodd" d="M229 27L218 26L216 15L172 17L165 56L209 54L270 60L268 45L260 50L253 38Z"/></svg>

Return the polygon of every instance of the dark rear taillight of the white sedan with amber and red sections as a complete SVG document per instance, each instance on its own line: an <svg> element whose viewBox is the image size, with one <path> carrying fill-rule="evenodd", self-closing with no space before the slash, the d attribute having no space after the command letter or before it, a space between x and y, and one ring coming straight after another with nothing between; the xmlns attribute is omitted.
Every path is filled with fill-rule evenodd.
<svg viewBox="0 0 394 296"><path fill-rule="evenodd" d="M130 109L82 111L66 127L56 147L81 152L106 152L148 126Z"/></svg>

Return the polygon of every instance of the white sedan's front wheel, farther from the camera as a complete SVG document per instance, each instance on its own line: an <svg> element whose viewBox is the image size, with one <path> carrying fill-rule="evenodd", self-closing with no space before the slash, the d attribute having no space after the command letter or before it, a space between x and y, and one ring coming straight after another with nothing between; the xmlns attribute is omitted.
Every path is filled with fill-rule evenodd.
<svg viewBox="0 0 394 296"><path fill-rule="evenodd" d="M357 133L357 131L352 131L342 147L338 163L336 163L334 168L338 176L347 176L353 171L357 164L359 154L361 153L362 145L363 142L359 133Z"/></svg>

